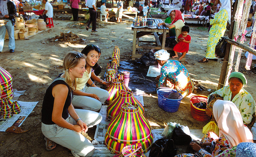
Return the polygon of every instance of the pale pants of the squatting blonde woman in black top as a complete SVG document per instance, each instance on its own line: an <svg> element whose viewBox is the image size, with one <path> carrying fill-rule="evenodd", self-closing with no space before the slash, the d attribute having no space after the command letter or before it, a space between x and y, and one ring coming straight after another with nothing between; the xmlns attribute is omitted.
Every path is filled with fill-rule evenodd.
<svg viewBox="0 0 256 157"><path fill-rule="evenodd" d="M78 116L84 121L88 128L97 125L101 122L101 114L84 109L75 109ZM76 120L72 117L66 119L69 123L75 125ZM94 146L83 135L76 131L62 128L57 124L46 125L42 123L42 132L48 139L55 143L62 145L71 150L74 157L92 156L94 153Z"/></svg>

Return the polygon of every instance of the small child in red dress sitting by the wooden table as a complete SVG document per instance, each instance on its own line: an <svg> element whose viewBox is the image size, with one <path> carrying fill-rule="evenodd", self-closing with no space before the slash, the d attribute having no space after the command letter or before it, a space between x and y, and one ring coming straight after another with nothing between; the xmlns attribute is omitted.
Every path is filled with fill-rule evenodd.
<svg viewBox="0 0 256 157"><path fill-rule="evenodd" d="M189 50L189 44L191 43L191 37L188 35L189 33L189 27L188 26L183 26L181 28L181 34L178 36L178 43L174 46L174 52L175 56L172 56L172 58L178 57L177 52L181 52L182 55L180 57L180 60L186 55L186 53Z"/></svg>

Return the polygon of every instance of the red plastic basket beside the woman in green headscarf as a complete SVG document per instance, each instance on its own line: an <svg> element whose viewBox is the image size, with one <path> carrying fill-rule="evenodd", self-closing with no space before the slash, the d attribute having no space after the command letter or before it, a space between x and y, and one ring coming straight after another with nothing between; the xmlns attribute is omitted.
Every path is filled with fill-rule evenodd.
<svg viewBox="0 0 256 157"><path fill-rule="evenodd" d="M193 105L194 103L199 103L199 102L207 103L207 96L194 95L190 97L191 115L194 119L198 121L207 121L209 120L209 116L206 114L205 109L201 109Z"/></svg>

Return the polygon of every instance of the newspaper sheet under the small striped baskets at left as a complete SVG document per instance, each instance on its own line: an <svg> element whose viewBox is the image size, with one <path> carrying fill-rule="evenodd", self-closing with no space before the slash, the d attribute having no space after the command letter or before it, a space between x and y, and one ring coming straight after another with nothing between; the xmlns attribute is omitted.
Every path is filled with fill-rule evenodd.
<svg viewBox="0 0 256 157"><path fill-rule="evenodd" d="M21 126L21 124L25 121L28 115L32 112L34 107L38 102L22 102L18 101L21 105L21 113L13 114L11 118L4 119L2 115L0 117L0 131L5 131L7 128L11 126Z"/></svg>

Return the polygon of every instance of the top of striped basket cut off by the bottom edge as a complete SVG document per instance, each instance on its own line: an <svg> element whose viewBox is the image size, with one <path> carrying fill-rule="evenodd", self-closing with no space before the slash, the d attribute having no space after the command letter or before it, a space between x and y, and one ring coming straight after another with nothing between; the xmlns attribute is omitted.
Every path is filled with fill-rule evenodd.
<svg viewBox="0 0 256 157"><path fill-rule="evenodd" d="M122 153L115 155L114 157L146 157L146 156L143 153L142 147L129 145L122 149Z"/></svg>

